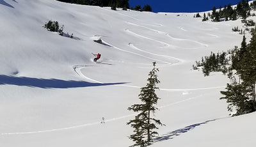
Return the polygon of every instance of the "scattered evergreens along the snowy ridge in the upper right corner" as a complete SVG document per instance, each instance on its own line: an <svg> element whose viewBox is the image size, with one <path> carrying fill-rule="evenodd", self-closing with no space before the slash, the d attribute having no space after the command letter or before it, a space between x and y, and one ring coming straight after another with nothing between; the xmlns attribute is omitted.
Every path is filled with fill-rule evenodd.
<svg viewBox="0 0 256 147"><path fill-rule="evenodd" d="M251 10L256 10L256 1L249 4L248 0L241 0L236 7L232 8L231 4L220 6L217 10L216 6L212 8L212 13L204 13L202 21L211 19L214 22L237 20L239 17L246 19L250 16L255 16L255 13L251 13ZM195 17L201 17L199 13L196 13Z"/></svg>

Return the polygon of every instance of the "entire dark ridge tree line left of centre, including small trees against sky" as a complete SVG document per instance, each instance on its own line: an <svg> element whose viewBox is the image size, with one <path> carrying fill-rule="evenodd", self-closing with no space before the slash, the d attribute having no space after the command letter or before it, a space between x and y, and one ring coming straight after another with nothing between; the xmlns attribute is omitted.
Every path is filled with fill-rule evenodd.
<svg viewBox="0 0 256 147"><path fill-rule="evenodd" d="M92 6L110 6L112 10L116 8L122 8L122 10L127 10L130 8L129 0L57 0L65 3L74 3L74 4L86 4ZM143 12L152 12L150 5L146 4L141 8L140 5L131 8L131 10L143 11Z"/></svg>

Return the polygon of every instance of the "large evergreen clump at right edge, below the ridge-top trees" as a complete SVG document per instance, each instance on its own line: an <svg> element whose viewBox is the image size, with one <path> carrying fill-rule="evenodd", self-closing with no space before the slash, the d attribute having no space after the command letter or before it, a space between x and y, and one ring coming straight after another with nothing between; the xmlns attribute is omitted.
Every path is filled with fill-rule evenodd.
<svg viewBox="0 0 256 147"><path fill-rule="evenodd" d="M202 61L196 61L195 70L199 67L205 76L211 72L222 72L230 79L230 83L221 91L220 99L227 100L228 111L236 115L256 111L256 31L253 29L250 43L246 44L243 36L241 48L235 47L227 52L211 53Z"/></svg>

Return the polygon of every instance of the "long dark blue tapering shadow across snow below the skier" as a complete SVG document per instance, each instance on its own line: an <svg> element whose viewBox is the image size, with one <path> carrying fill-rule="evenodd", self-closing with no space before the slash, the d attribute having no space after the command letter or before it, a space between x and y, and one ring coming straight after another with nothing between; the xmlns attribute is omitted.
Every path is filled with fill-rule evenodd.
<svg viewBox="0 0 256 147"><path fill-rule="evenodd" d="M0 75L0 85L29 86L34 88L84 88L126 84L127 82L93 83L85 81L63 81L60 79L37 79L32 77L13 77Z"/></svg>

